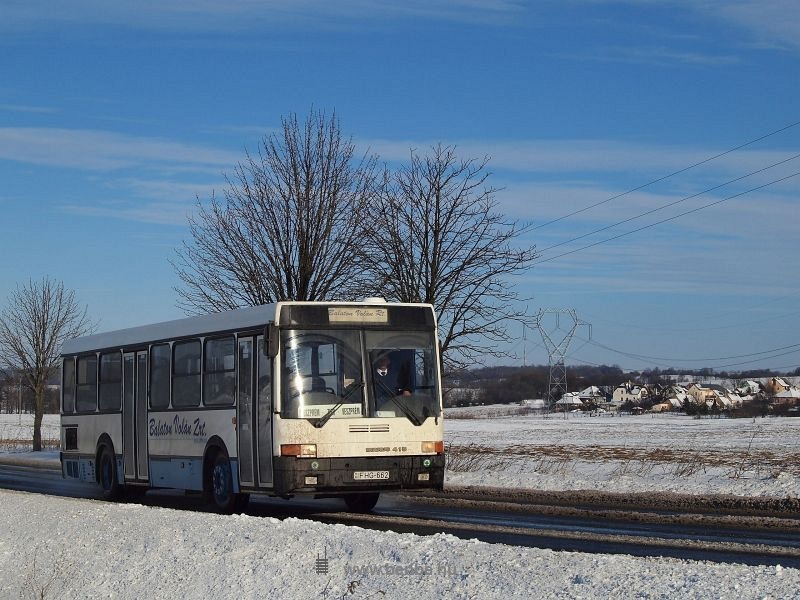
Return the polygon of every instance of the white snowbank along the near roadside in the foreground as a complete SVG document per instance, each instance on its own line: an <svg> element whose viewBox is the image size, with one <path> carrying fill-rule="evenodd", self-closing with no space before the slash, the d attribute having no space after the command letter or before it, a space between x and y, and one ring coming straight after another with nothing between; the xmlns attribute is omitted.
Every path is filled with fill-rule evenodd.
<svg viewBox="0 0 800 600"><path fill-rule="evenodd" d="M781 567L553 552L2 490L0 503L4 598L800 598L800 570Z"/></svg>

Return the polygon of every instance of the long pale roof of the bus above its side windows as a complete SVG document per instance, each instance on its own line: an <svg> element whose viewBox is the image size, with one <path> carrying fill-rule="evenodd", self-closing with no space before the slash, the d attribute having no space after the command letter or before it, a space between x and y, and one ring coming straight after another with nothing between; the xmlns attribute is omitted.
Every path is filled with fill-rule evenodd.
<svg viewBox="0 0 800 600"><path fill-rule="evenodd" d="M130 329L96 333L64 342L62 355L80 354L106 348L139 346L161 340L194 335L263 328L275 319L276 304L248 306L225 312L153 323Z"/></svg>

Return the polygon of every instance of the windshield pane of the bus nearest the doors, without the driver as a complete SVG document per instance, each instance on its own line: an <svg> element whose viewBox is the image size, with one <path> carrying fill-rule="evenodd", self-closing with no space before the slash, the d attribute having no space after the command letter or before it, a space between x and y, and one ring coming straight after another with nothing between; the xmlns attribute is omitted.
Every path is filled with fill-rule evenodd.
<svg viewBox="0 0 800 600"><path fill-rule="evenodd" d="M364 410L358 331L288 330L283 343L281 416L290 419L360 417Z"/></svg>

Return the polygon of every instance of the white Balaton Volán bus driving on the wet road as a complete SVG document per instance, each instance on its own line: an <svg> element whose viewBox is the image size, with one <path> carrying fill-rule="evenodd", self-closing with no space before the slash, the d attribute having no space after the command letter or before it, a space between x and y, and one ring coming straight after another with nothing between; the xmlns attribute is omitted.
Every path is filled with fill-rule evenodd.
<svg viewBox="0 0 800 600"><path fill-rule="evenodd" d="M64 477L123 492L441 489L439 347L426 304L278 302L70 340L62 349Z"/></svg>

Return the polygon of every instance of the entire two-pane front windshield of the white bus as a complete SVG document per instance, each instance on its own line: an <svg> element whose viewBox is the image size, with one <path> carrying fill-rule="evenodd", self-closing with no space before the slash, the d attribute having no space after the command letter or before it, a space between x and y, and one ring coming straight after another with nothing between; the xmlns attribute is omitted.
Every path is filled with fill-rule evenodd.
<svg viewBox="0 0 800 600"><path fill-rule="evenodd" d="M283 418L441 414L433 332L283 330ZM366 370L366 372L365 372Z"/></svg>

